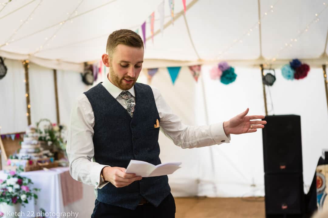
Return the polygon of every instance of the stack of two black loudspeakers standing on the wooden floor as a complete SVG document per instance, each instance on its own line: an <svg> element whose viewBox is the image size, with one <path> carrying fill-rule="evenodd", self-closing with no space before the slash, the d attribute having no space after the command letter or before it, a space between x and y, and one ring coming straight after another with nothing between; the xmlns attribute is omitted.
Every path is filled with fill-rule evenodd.
<svg viewBox="0 0 328 218"><path fill-rule="evenodd" d="M301 119L266 116L262 129L266 218L304 217Z"/></svg>

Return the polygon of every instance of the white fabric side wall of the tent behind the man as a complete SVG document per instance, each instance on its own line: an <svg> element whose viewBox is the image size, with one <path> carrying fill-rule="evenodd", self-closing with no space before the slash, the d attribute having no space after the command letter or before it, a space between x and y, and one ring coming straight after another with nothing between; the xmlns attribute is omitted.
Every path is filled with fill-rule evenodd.
<svg viewBox="0 0 328 218"><path fill-rule="evenodd" d="M1 133L24 131L27 126L24 69L20 61L6 60L8 74L0 80ZM32 124L40 118L56 122L53 73L30 64ZM175 84L166 68L159 69L151 85L158 88L174 113L188 125L226 121L247 107L250 114L264 114L263 92L258 68L236 68L230 85L209 78L211 66L203 66L198 83L182 67ZM288 81L277 70L277 81L267 89L269 114L301 115L304 183L309 186L321 150L327 148L327 105L321 69L311 69L303 80ZM100 77L96 83L103 80ZM203 79L205 87L202 87ZM76 72L57 71L60 120L68 124L75 98L91 88ZM142 74L139 81L146 83ZM206 97L206 104L204 93ZM207 107L205 107L205 105ZM206 113L207 109L207 113ZM208 117L206 117L206 114ZM208 118L208 119L207 119ZM162 162L182 161L182 168L169 176L175 196L248 196L264 194L262 133L232 135L231 143L205 148L181 149L162 133L159 136ZM251 188L251 184L256 184Z"/></svg>

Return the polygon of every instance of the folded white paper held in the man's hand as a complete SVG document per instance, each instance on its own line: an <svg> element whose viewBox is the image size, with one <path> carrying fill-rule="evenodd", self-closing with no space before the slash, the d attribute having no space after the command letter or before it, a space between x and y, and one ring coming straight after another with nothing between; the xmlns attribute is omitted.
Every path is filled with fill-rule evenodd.
<svg viewBox="0 0 328 218"><path fill-rule="evenodd" d="M173 162L161 163L155 166L141 160L130 160L125 173L135 173L137 176L142 177L163 176L173 174L174 171L181 168L179 167L180 164L181 162Z"/></svg>

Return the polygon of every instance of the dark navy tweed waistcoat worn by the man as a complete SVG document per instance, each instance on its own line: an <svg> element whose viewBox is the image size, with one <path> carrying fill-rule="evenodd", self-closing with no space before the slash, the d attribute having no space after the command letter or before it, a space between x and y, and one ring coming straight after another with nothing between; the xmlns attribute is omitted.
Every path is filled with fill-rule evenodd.
<svg viewBox="0 0 328 218"><path fill-rule="evenodd" d="M160 121L150 86L135 83L135 109L131 118L126 109L100 83L84 92L94 113L94 159L112 167L127 168L131 159L160 164L158 134ZM144 197L157 207L171 192L167 176L144 177L116 188L108 183L98 189L97 200L134 210Z"/></svg>

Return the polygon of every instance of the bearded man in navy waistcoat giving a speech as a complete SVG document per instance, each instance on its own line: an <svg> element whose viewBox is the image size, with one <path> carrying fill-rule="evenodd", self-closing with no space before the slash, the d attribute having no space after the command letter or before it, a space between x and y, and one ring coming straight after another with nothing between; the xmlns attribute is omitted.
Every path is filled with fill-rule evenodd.
<svg viewBox="0 0 328 218"><path fill-rule="evenodd" d="M159 129L182 148L228 143L230 134L256 132L264 116L186 126L173 114L160 92L136 83L144 47L138 34L121 29L107 41L103 63L110 68L103 83L84 92L71 113L67 143L72 177L97 189L92 217L165 217L175 215L167 176L125 173L131 159L160 164ZM95 162L91 159L94 157Z"/></svg>

